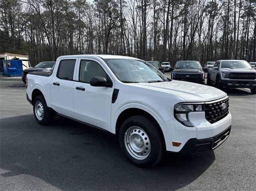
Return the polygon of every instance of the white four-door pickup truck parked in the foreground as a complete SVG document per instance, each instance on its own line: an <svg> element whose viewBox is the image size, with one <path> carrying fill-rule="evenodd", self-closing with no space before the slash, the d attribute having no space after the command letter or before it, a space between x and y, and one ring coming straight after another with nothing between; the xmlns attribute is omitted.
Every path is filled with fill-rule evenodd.
<svg viewBox="0 0 256 191"><path fill-rule="evenodd" d="M28 73L26 93L39 124L59 115L116 134L126 157L142 167L166 151L212 151L231 129L226 93L171 80L132 57L58 57L52 73Z"/></svg>

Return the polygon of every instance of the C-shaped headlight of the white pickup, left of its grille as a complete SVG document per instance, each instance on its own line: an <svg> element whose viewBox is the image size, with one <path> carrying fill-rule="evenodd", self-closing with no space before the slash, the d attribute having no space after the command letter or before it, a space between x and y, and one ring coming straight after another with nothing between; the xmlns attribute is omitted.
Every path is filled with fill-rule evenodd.
<svg viewBox="0 0 256 191"><path fill-rule="evenodd" d="M190 112L204 111L204 104L202 103L178 103L174 106L174 118L181 124L187 127L193 127L188 119Z"/></svg>

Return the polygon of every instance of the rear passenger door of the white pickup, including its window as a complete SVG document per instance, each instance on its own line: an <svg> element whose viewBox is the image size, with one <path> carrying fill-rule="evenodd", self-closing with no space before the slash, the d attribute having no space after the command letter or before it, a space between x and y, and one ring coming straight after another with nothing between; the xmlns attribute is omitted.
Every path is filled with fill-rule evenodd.
<svg viewBox="0 0 256 191"><path fill-rule="evenodd" d="M61 59L51 82L52 108L65 116L74 118L73 86L76 75L76 58Z"/></svg>

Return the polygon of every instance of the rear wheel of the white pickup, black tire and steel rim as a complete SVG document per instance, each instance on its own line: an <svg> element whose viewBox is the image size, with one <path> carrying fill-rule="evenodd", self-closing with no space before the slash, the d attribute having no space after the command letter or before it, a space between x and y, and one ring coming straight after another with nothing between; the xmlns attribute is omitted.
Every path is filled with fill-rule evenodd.
<svg viewBox="0 0 256 191"><path fill-rule="evenodd" d="M40 111L36 112L36 107L39 107L39 109L41 109L43 113L42 115L39 115ZM47 125L50 124L50 122L52 121L53 115L47 107L44 96L40 95L35 98L33 103L33 111L34 117L40 125Z"/></svg>

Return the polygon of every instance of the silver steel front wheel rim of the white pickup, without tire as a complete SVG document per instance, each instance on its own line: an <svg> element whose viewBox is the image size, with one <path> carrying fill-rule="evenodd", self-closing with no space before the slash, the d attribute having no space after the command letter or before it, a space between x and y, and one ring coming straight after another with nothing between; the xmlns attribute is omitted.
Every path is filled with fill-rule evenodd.
<svg viewBox="0 0 256 191"><path fill-rule="evenodd" d="M142 128L138 126L129 127L124 134L124 143L129 154L138 160L143 160L150 154L150 140Z"/></svg>

